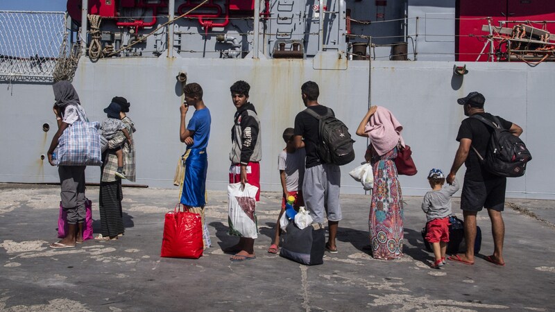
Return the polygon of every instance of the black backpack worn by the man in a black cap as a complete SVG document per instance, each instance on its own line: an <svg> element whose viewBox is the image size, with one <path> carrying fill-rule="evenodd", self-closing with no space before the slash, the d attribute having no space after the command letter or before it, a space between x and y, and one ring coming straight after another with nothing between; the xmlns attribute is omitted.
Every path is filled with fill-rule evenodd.
<svg viewBox="0 0 555 312"><path fill-rule="evenodd" d="M502 128L497 116L493 116L493 121L478 114L473 114L472 118L478 119L493 129L486 149L486 157L482 157L472 146L484 168L490 173L502 177L520 177L524 175L526 164L532 159L532 155L524 142L513 135L509 129Z"/></svg>

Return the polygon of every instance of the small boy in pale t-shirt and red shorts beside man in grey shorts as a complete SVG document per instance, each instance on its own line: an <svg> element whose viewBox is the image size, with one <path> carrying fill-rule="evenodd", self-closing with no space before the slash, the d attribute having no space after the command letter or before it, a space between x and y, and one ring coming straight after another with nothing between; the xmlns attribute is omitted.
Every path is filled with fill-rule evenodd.
<svg viewBox="0 0 555 312"><path fill-rule="evenodd" d="M293 207L298 209L305 204L302 202L302 176L305 175L305 148L295 148L293 142L293 128L287 128L283 132L283 140L285 148L278 155L278 169L280 170L280 180L283 189L282 210L278 216L278 222L275 223L275 233L272 245L268 248L271 254L277 254L280 245L280 218L285 211L285 202L289 196L295 198Z"/></svg>

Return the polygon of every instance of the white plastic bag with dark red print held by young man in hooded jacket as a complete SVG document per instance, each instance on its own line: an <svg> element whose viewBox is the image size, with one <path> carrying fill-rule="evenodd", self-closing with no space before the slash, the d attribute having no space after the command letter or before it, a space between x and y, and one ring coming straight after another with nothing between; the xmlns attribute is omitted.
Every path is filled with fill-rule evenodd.
<svg viewBox="0 0 555 312"><path fill-rule="evenodd" d="M241 183L228 185L230 234L248 239L258 237L256 227L257 191L257 187L248 183L245 184L245 189L242 189Z"/></svg>

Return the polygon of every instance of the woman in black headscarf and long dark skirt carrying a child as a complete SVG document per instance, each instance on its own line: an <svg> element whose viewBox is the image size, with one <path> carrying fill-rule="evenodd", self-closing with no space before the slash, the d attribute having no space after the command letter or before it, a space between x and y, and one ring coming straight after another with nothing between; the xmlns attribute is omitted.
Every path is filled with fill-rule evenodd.
<svg viewBox="0 0 555 312"><path fill-rule="evenodd" d="M96 240L110 241L123 235L123 210L121 200L123 191L121 190L121 179L115 174L117 172L117 156L113 150L121 146L123 150L123 171L126 173L127 180L135 182L135 123L126 116L129 112L130 103L121 96L112 98L112 103L116 103L121 108L119 117L125 124L131 141L127 141L123 132L119 131L115 137L108 141L108 149L102 155L102 166L99 190L99 210L101 234L96 236ZM123 142L123 145L121 145Z"/></svg>

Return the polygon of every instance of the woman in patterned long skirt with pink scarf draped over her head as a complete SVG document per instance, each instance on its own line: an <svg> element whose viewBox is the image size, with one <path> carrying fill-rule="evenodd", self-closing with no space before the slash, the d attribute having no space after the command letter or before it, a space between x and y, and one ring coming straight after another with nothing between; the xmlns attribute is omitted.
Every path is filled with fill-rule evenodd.
<svg viewBox="0 0 555 312"><path fill-rule="evenodd" d="M365 158L372 164L374 187L368 227L376 259L403 255L403 202L394 162L398 146L404 146L401 130L401 123L381 106L370 107L357 128L357 135L370 139Z"/></svg>

